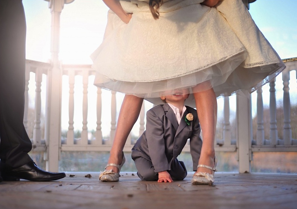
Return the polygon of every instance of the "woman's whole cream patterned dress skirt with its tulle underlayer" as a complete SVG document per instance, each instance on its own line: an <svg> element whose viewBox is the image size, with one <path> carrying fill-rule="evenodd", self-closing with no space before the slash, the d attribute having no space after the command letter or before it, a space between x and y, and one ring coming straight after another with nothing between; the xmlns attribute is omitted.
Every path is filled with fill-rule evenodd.
<svg viewBox="0 0 297 209"><path fill-rule="evenodd" d="M125 24L109 10L104 40L91 55L94 84L159 104L175 89L251 93L285 68L241 0L201 2L164 0L155 20L147 1L120 0L132 19ZM186 105L195 107L193 95Z"/></svg>

